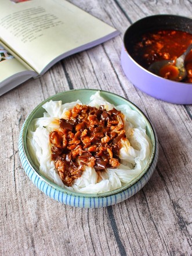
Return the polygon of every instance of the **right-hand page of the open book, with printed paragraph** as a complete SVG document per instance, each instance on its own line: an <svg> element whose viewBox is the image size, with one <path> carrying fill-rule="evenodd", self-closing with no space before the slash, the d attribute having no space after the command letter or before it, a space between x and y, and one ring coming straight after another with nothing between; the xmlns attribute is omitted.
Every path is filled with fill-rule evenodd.
<svg viewBox="0 0 192 256"><path fill-rule="evenodd" d="M0 0L0 4L2 42L38 73L58 56L68 56L74 49L81 51L92 42L96 45L96 40L107 40L109 34L118 34L113 27L64 0Z"/></svg>

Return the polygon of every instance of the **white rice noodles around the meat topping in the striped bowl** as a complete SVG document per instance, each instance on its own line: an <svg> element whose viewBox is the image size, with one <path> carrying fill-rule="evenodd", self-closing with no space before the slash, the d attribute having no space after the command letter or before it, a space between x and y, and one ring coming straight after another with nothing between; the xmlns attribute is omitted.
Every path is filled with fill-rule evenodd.
<svg viewBox="0 0 192 256"><path fill-rule="evenodd" d="M61 187L64 186L57 173L54 162L51 160L51 145L49 133L59 128L59 119L66 111L73 108L80 101L61 104L61 101L49 101L43 105L44 117L33 120L28 132L28 147L38 160L39 170L50 180ZM116 108L125 116L127 139L121 140L122 148L119 152L121 165L117 169L107 169L105 172L84 166L81 177L67 189L81 193L103 193L118 189L131 182L146 166L151 152L151 141L146 134L146 122L139 113L127 105L114 106L100 96L99 91L90 97L90 106L104 105L107 110Z"/></svg>

